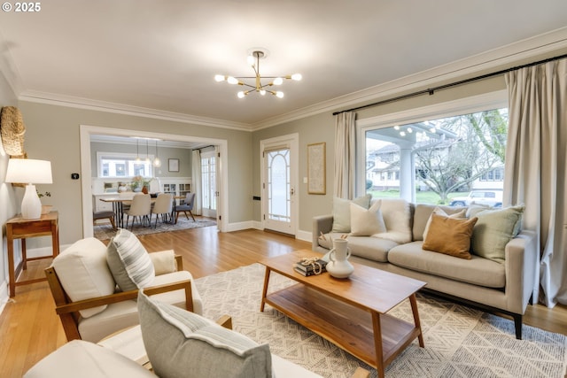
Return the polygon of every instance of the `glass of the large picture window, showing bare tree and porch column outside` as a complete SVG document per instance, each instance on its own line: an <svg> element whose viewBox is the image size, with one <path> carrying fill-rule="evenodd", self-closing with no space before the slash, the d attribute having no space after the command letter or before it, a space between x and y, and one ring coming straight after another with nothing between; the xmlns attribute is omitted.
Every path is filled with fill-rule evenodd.
<svg viewBox="0 0 567 378"><path fill-rule="evenodd" d="M400 171L408 169L417 202L447 204L484 178L492 181L491 189L501 189L495 177L503 172L507 127L508 110L495 109L371 130L367 191L374 197L399 196Z"/></svg>

